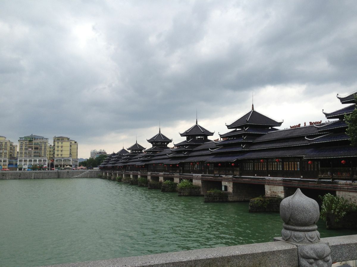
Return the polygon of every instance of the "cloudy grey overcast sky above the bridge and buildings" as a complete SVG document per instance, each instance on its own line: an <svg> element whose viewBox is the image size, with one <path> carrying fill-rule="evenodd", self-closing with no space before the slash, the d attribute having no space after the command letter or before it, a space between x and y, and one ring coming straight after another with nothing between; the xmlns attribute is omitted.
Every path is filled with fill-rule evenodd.
<svg viewBox="0 0 357 267"><path fill-rule="evenodd" d="M326 121L357 90L351 1L5 1L0 135L67 136L108 153L251 109ZM173 146L172 143L169 146Z"/></svg>

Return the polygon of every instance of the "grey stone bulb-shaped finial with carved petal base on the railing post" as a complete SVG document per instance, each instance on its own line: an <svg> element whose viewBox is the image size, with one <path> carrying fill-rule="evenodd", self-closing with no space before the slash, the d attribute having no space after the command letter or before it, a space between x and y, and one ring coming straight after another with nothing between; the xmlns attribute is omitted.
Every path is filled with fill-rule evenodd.
<svg viewBox="0 0 357 267"><path fill-rule="evenodd" d="M281 230L283 240L301 244L320 241L316 225L320 217L318 204L301 193L299 188L295 194L281 201L280 216L284 221Z"/></svg>

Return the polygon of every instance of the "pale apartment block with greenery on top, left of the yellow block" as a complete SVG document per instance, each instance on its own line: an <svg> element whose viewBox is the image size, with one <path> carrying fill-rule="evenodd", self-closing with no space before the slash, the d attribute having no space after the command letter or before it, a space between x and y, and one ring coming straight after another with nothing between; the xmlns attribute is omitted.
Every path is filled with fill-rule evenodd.
<svg viewBox="0 0 357 267"><path fill-rule="evenodd" d="M39 135L29 135L19 139L19 157L17 167L19 170L31 168L37 165L40 168L47 168L47 147L48 138Z"/></svg>

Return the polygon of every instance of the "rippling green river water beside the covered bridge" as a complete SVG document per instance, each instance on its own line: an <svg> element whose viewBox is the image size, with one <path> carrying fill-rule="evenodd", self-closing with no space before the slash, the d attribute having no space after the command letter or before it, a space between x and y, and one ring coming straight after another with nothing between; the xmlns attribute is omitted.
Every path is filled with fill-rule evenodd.
<svg viewBox="0 0 357 267"><path fill-rule="evenodd" d="M321 237L357 234L326 230ZM111 180L0 180L0 266L40 266L272 241L277 213Z"/></svg>

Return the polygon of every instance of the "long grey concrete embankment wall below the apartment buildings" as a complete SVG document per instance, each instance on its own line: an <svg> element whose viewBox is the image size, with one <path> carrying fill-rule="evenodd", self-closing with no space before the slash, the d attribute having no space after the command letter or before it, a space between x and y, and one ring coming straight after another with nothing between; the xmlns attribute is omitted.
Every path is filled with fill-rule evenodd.
<svg viewBox="0 0 357 267"><path fill-rule="evenodd" d="M55 179L55 178L97 178L98 170L81 171L1 171L0 180L11 179Z"/></svg>

